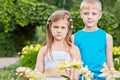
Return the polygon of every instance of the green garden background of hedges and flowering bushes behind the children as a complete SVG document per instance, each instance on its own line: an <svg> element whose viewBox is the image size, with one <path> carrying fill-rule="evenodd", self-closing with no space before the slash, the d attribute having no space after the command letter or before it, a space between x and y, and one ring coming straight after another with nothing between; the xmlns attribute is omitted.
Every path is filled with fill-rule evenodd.
<svg viewBox="0 0 120 80"><path fill-rule="evenodd" d="M81 1L0 0L0 57L20 57L16 64L0 70L0 80L16 78L15 69L18 66L34 69L37 53L45 40L47 19L55 10L70 11L73 33L82 29L84 24L79 15ZM103 17L98 26L113 36L114 64L120 70L120 0L100 1Z"/></svg>

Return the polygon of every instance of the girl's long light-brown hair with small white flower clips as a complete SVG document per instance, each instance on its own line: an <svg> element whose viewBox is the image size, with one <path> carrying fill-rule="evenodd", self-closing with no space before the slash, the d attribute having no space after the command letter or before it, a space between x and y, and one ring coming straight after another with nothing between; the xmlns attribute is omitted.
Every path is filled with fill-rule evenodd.
<svg viewBox="0 0 120 80"><path fill-rule="evenodd" d="M52 23L57 22L59 20L64 20L66 19L68 21L68 33L65 38L65 42L67 47L72 46L72 39L71 39L71 34L72 34L72 18L70 13L67 10L57 10L55 11L47 21L47 28L46 28L46 42L45 45L47 45L47 51L51 51L52 43L54 40L54 37L52 36L52 32L50 30Z"/></svg>

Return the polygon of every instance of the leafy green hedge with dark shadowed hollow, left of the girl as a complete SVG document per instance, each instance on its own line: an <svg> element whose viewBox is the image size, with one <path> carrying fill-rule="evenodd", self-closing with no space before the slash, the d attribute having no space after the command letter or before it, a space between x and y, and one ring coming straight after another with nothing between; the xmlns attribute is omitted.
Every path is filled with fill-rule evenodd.
<svg viewBox="0 0 120 80"><path fill-rule="evenodd" d="M0 56L16 56L56 9L37 0L0 0Z"/></svg>

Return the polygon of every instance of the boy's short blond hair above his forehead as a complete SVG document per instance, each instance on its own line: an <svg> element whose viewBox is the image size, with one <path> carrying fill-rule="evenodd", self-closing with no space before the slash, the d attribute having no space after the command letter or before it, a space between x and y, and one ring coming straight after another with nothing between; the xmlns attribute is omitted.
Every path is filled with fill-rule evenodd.
<svg viewBox="0 0 120 80"><path fill-rule="evenodd" d="M89 5L88 5L89 4ZM98 9L101 11L102 10L102 5L101 5L101 2L99 0L83 0L81 2L81 5L80 5L80 10L83 9L83 7L86 7L86 6L92 6L96 4Z"/></svg>

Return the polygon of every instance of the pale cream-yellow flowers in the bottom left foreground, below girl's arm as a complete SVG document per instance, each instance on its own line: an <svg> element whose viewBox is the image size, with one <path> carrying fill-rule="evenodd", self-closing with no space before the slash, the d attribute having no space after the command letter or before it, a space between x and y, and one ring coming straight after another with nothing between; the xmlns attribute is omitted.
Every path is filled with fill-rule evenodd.
<svg viewBox="0 0 120 80"><path fill-rule="evenodd" d="M46 80L44 74L29 67L18 67L16 72L18 80Z"/></svg>

